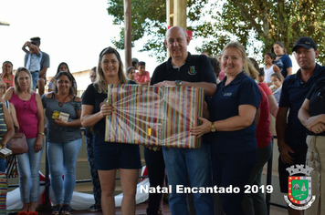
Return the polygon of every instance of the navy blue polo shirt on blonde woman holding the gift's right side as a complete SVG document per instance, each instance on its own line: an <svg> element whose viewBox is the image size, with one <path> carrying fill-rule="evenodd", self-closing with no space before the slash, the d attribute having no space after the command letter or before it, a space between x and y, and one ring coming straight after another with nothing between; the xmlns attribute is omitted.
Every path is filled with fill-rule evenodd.
<svg viewBox="0 0 325 215"><path fill-rule="evenodd" d="M215 95L207 98L210 120L218 121L238 116L240 105L258 108L261 93L257 83L241 72L225 86L225 79L218 84ZM211 149L215 153L242 153L257 148L255 119L244 129L236 131L216 131L210 133Z"/></svg>

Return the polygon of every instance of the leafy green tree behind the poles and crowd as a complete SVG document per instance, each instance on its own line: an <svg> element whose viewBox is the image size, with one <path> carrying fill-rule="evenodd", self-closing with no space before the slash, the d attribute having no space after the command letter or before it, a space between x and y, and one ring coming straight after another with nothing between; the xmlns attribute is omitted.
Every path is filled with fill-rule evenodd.
<svg viewBox="0 0 325 215"><path fill-rule="evenodd" d="M162 60L165 22L164 0L132 0L133 41L147 36L142 51ZM202 39L197 52L206 51L211 56L221 52L230 41L237 40L249 53L261 60L263 54L272 51L274 42L281 41L291 54L294 42L300 36L310 36L320 49L319 61L325 62L325 1L323 0L188 0L188 29L194 31L195 39ZM123 1L109 2L108 12L115 17L114 24L123 23ZM120 40L114 41L123 48L121 27Z"/></svg>

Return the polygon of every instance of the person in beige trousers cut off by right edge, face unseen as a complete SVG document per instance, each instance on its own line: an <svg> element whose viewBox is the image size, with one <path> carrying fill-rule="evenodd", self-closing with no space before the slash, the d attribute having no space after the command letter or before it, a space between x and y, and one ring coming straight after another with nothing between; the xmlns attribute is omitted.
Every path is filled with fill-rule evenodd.
<svg viewBox="0 0 325 215"><path fill-rule="evenodd" d="M325 78L310 89L299 109L298 118L307 128L307 166L311 171L311 193L315 202L305 211L307 215L325 214Z"/></svg>

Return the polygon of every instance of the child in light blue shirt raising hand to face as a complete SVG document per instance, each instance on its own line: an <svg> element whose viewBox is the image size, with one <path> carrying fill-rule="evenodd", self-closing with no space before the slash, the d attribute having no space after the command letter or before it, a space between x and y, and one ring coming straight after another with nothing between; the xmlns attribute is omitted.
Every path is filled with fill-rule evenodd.
<svg viewBox="0 0 325 215"><path fill-rule="evenodd" d="M26 49L28 47L29 51ZM42 52L39 51L36 42L27 41L22 47L23 51L27 54L25 67L30 71L33 79L33 90L37 89L38 73L40 71L40 61L42 59Z"/></svg>

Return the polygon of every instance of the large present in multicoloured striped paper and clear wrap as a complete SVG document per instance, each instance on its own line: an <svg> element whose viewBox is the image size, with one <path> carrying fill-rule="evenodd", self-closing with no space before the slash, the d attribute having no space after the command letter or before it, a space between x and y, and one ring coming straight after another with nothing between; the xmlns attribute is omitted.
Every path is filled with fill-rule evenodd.
<svg viewBox="0 0 325 215"><path fill-rule="evenodd" d="M170 148L200 148L191 135L203 115L204 89L111 85L105 140Z"/></svg>

